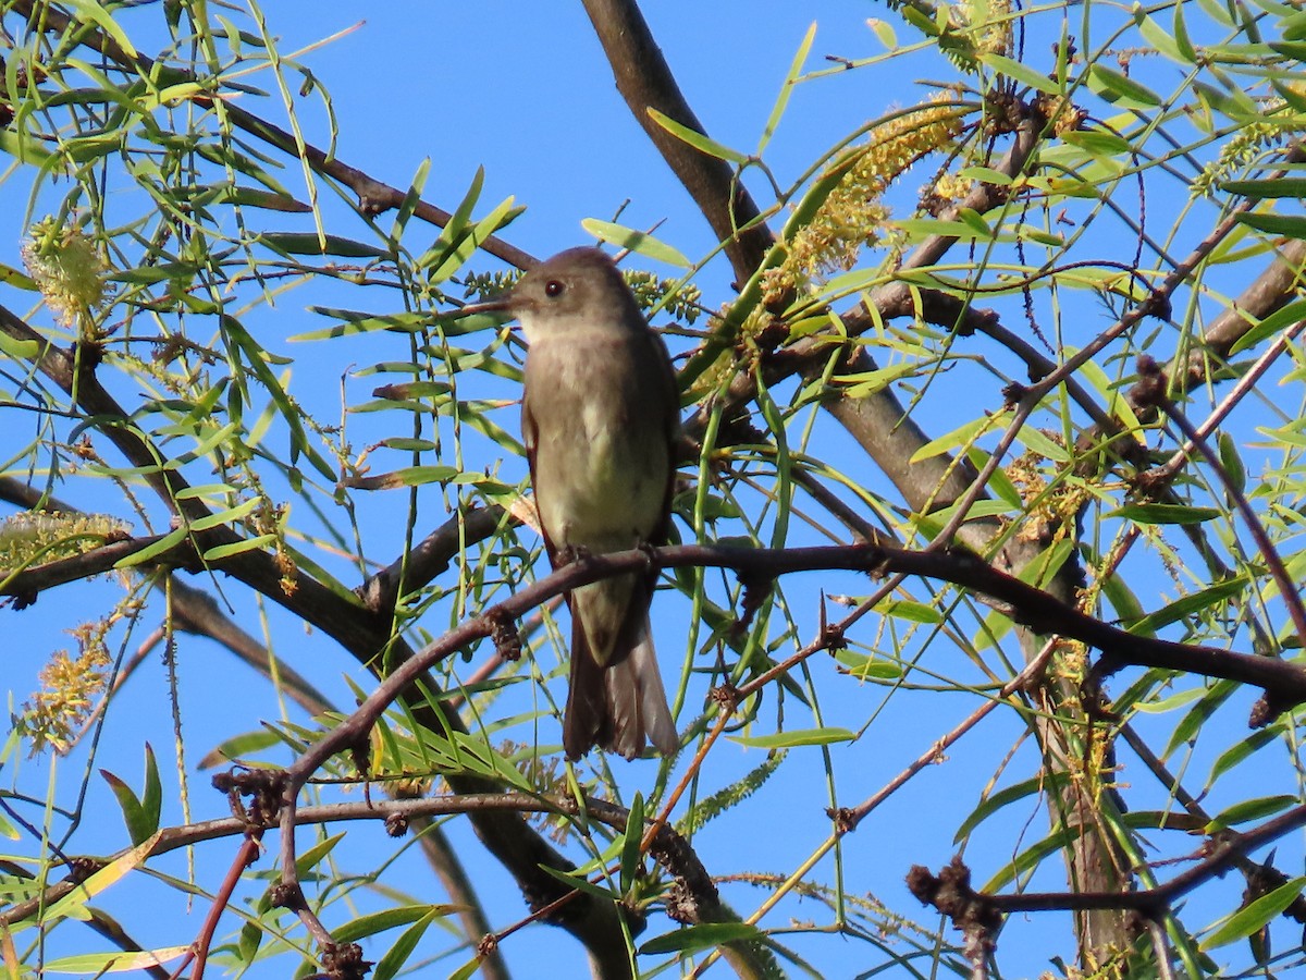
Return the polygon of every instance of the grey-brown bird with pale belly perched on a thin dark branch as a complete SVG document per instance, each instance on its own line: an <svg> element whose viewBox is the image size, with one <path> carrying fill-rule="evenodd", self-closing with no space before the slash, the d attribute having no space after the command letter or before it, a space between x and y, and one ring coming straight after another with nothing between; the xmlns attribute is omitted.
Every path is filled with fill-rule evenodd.
<svg viewBox="0 0 1306 980"><path fill-rule="evenodd" d="M666 540L680 401L666 346L616 265L571 248L535 267L504 303L530 349L521 433L549 561ZM679 747L649 627L654 575L573 589L563 746L627 759Z"/></svg>

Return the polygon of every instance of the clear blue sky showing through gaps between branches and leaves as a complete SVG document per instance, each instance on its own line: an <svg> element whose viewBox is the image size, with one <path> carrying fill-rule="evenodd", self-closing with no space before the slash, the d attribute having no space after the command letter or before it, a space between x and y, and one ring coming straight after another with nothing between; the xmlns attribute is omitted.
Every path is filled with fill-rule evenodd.
<svg viewBox="0 0 1306 980"><path fill-rule="evenodd" d="M452 209L473 180L478 167L485 167L485 191L481 210L487 210L499 200L513 196L528 210L505 233L517 246L537 256L546 256L572 244L585 243L586 235L580 221L586 217L611 218L622 210L622 222L631 226L658 227L658 237L674 243L683 253L697 256L712 246L712 235L696 213L687 193L678 186L669 169L644 137L616 93L611 73L602 59L598 42L588 21L575 4L482 3L482 4L377 4L367 12L367 20L358 22L359 7L328 4L273 4L266 10L270 33L281 38L279 51L285 55L295 48L349 30L329 44L303 56L315 76L329 90L334 111L340 119L337 154L345 162L366 170L387 183L405 187L423 159L430 158L431 171L424 197ZM810 65L821 65L825 54L845 57L865 57L882 50L866 18L884 16L883 8L865 3L755 3L755 4L645 4L654 34L661 39L663 54L680 81L684 94L699 118L714 139L737 149L751 152L759 140L778 86L811 21L819 22L819 33L812 48ZM136 21L154 17L146 8L132 14ZM131 24L132 21L124 21ZM900 35L905 35L900 30ZM904 61L902 64L908 64ZM951 77L951 71L939 59L922 56L912 61L908 74L897 64L882 71L841 72L804 84L797 89L788 115L767 150L767 162L781 183L797 178L829 145L849 131L883 112L916 102L922 89L918 78ZM268 73L247 81L272 85ZM281 119L276 98L246 103L247 108ZM320 103L315 98L299 99L306 135L317 145L324 145L326 128ZM912 175L905 182L906 200L929 176L929 170ZM287 169L282 179L302 189L302 179ZM296 183L298 182L298 183ZM752 182L763 204L769 203L765 186ZM57 188L55 188L57 189ZM324 196L325 197L325 196ZM627 204L628 201L628 204ZM24 180L10 179L0 184L0 261L17 264L17 243L22 238L21 216L26 210ZM39 217L39 208L37 209ZM328 200L324 213L329 230L366 240L360 225L337 203ZM289 222L287 222L289 223ZM381 223L388 223L383 217ZM410 230L410 235L434 238L435 230ZM648 267L645 261L639 263ZM495 263L479 263L481 268L494 268ZM669 274L670 269L661 269ZM704 302L710 307L730 298L730 272L724 263L709 267L697 280L704 291ZM10 298L7 303L16 304ZM276 310L257 314L255 323L268 346L291 353L299 362L294 367L294 391L320 417L333 419L340 416L340 392L343 385L346 401L358 404L377 383L374 376L351 374L358 366L396 357L394 350L379 350L379 344L389 338L368 337L330 344L277 344L282 340L326 325L324 318L304 310L307 303L330 306L332 295L289 291ZM359 308L357 290L341 290L342 304ZM385 307L387 298L368 294L372 307ZM1105 325L1104 310L1092 301L1085 304L1084 333ZM1092 302L1092 304L1089 304ZM21 308L21 307L20 307ZM401 348L396 348L402 353ZM960 375L959 375L960 376ZM976 414L976 404L998 408L998 383L987 375L965 375L965 384L957 384L955 395L944 399L938 414L927 423L936 431L946 431L952 423ZM972 384L973 382L973 384ZM490 391L500 391L491 389ZM503 395L503 397L512 397ZM951 402L951 404L947 404ZM393 416L389 416L393 418ZM516 409L505 408L502 423L516 423ZM359 439L366 443L376 436L376 425L368 419L350 422ZM383 422L384 425L384 422ZM838 456L838 430L825 422L820 430L824 452ZM377 469L385 469L377 453ZM516 482L525 473L520 459L490 459L486 465L496 468L507 482ZM874 477L867 474L867 480ZM93 497L93 495L91 495ZM379 558L393 557L402 529L394 525L393 515L404 502L385 499L381 494L362 495L360 511L368 550ZM94 499L74 503L94 507ZM436 489L424 491L424 514L434 523L443 520L441 499ZM389 520L389 523L387 523ZM797 532L795 532L797 533ZM199 585L222 588L221 579ZM784 583L793 604L802 612L799 639L810 639L816 629L815 601L818 589L829 592L866 592L863 581L852 576L842 580L823 580L806 576ZM67 588L57 595L43 596L34 610L24 614L12 610L0 613L21 630L21 651L14 656L18 668L8 673L7 689L21 700L33 686L33 678L44 652L56 645L67 645L60 638L68 609L85 604L88 609L103 608L114 593L103 583ZM97 605L99 604L99 605ZM660 647L663 670L673 672L684 649L683 638L674 632L680 612L671 600L660 598ZM351 694L343 681L349 674L364 683L366 676L332 644L307 635L303 629L278 610L261 610L236 597L242 623L251 632L265 627L281 656L298 669L306 669L337 703L347 704ZM443 629L447 609L436 609L427 629ZM266 617L266 619L264 619ZM866 627L871 632L870 627ZM876 638L863 638L867 643ZM140 642L132 639L131 647ZM884 640L888 643L888 640ZM196 776L199 754L213 742L234 732L253 730L264 720L281 717L282 710L273 695L259 683L242 681L243 668L232 668L227 656L217 647L193 639L183 639L179 696L182 724L191 755L184 760L192 779L191 806L196 817L221 815L225 802L206 787L206 776ZM943 644L935 647L944 651ZM976 679L977 674L961 653L947 651L935 653L929 662L932 670L949 677ZM140 743L149 738L163 759L165 780L176 785L176 777L167 763L171 745L171 720L159 711L166 695L166 676L157 664L135 677L124 690L110 723L106 725L103 751L94 766L107 767L128 781L140 780ZM700 664L701 665L701 664ZM475 664L471 665L474 668ZM545 662L541 669L551 669ZM469 668L469 669L471 669ZM823 655L814 659L808 669L818 678L823 691L831 689L833 665ZM904 764L925 751L935 737L960 721L976 706L966 696L936 696L927 702L929 715L919 713L919 702L906 698L884 698L880 689L855 685L844 678L844 686L823 707L828 708L825 724L850 724L871 716L867 704L884 699L871 736L850 746L837 766L837 785L833 800L841 805L854 805L884 784ZM1123 681L1119 686L1123 686ZM554 690L560 690L555 685ZM691 700L701 691L691 690ZM556 696L556 695L555 695ZM1229 717L1239 712L1245 717L1249 698L1241 695L1228 708ZM696 704L687 710L692 716ZM1235 723L1234 723L1235 724ZM895 797L882 810L850 836L842 849L850 891L880 895L891 907L914 912L905 895L902 875L912 864L938 868L955 852L952 832L961 817L974 806L986 780L999 764L1006 747L1019 737L1020 728L1012 716L993 717L974 738L965 740L949 753L944 766L931 767L913 784L913 791ZM542 732L542 740L556 741L556 733ZM748 870L772 870L780 874L793 872L828 832L824 808L832 794L825 785L824 767L815 749L798 749L811 754L810 760L790 759L777 777L737 814L747 819L721 821L709 825L699 836L701 853L713 873L734 874ZM1028 743L1019 755L1028 768ZM704 784L701 793L714 792L729 779L737 777L760 762L759 750L724 747L717 750L712 770L714 783ZM1196 758L1202 758L1198 755ZM71 760L59 763L67 777L74 767L88 759L85 751ZM20 783L34 796L42 792L51 762L12 763L20 771ZM622 763L615 763L622 766ZM1196 763L1195 763L1196 764ZM1020 766L1013 766L1019 768ZM618 770L623 794L628 798L636 789L648 787L656 770L648 763L636 763ZM1013 779L1013 777L1012 777ZM170 781L168 781L170 780ZM89 811L112 813L107 792L94 774L89 777ZM171 804L171 797L168 797ZM1162 801L1164 802L1164 801ZM1160 802L1157 802L1160 805ZM97 809L99 808L99 810ZM1213 806L1212 809L1218 809ZM179 810L170 809L165 819L178 821ZM1010 858L1012 849L1042 836L1045 815L1029 806L1029 827L1024 835L1012 834L1010 825L1000 828L981 828L968 852L982 881L994 868ZM1010 821L1010 817L1008 817ZM1006 822L1004 822L1006 823ZM461 823L451 828L460 852L469 860L478 882L486 883L491 921L504 928L524 915L518 896L507 875L492 861L479 858L479 845ZM300 848L311 835L304 834ZM351 836L353 841L362 835ZM387 841L377 830L377 855L387 853ZM114 821L88 828L78 836L78 848L98 843L104 849L120 847L123 835ZM991 851L986 848L991 847ZM200 883L215 887L230 860L227 849L200 848L197 853ZM377 860L360 849L341 856L342 865L355 872L368 869L368 861ZM180 861L174 861L174 873L184 874ZM272 855L265 855L261 869L272 868ZM424 877L418 862L410 874L398 878L402 887L427 900L441 899ZM818 865L814 877L833 878L832 861ZM142 895L155 900L165 896L176 906L176 896L155 887L140 887ZM1043 875L1041 887L1060 887L1055 875ZM1237 882L1211 886L1222 892L1238 887ZM727 896L738 911L747 913L761 900L761 892L747 886L731 886ZM202 903L197 903L202 911ZM180 909L176 909L180 912ZM811 900L786 903L763 921L767 926L780 926L789 917L828 921L824 908ZM145 941L153 941L155 913L128 909L127 925L142 932ZM179 928L159 942L185 942L197 926L197 915L189 916ZM923 919L922 921L930 921ZM1072 949L1064 919L1040 916L1027 920L1013 919L1003 934L999 963L1007 975L1023 976L1037 972L1046 964L1050 953L1067 955ZM232 928L231 920L223 929ZM656 920L644 938L670 928L666 920ZM938 928L938 924L935 924ZM946 926L944 926L946 928ZM64 930L67 934L68 930ZM222 932L219 930L219 934ZM1055 941L1049 936L1055 934ZM956 939L955 933L948 933ZM80 939L78 939L80 941ZM848 976L867 970L880 962L868 943L855 943L831 937L785 937L802 955L827 976ZM98 946L97 946L98 947ZM384 949L381 946L380 949ZM376 953L380 951L376 950ZM60 950L61 953L63 950ZM547 958L550 972L558 976L581 975L584 959L580 949L563 934L533 928L513 937L504 946L511 967L520 976L530 976L532 970ZM457 956L434 968L447 972L461 962ZM283 963L277 963L260 975L279 975ZM257 972L257 971L256 971Z"/></svg>

